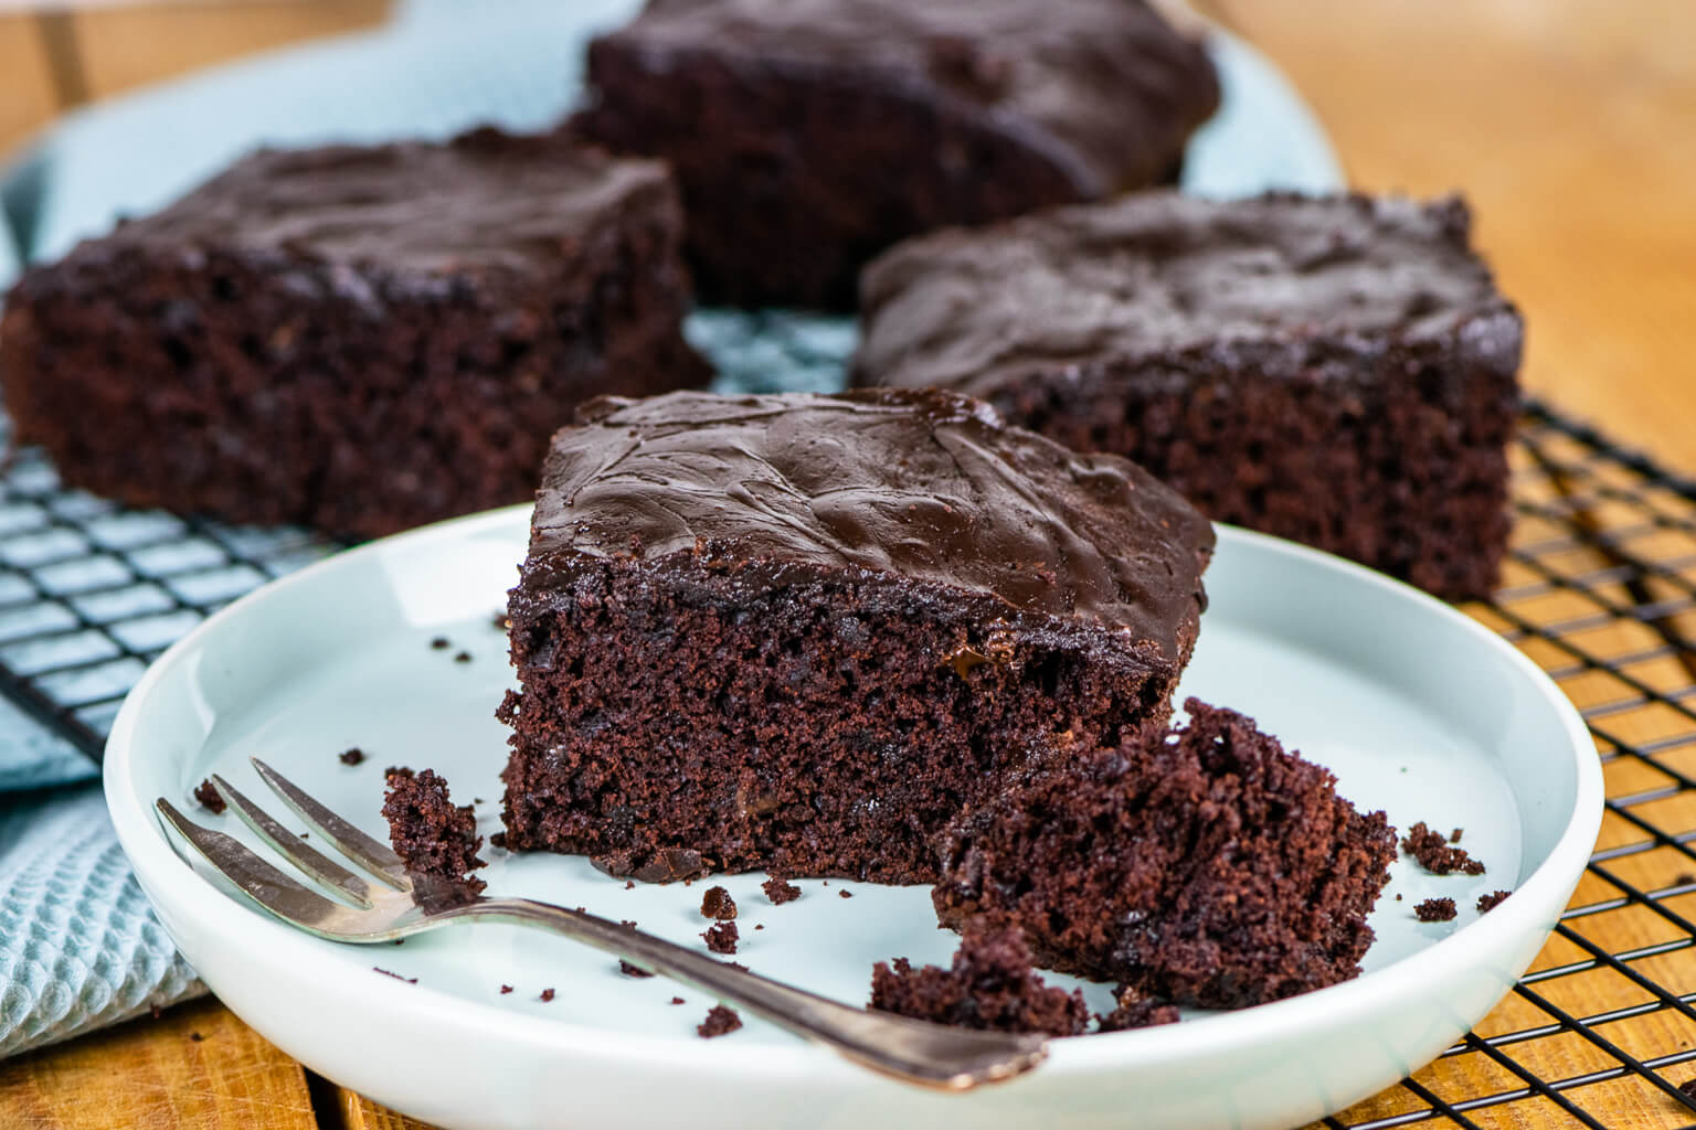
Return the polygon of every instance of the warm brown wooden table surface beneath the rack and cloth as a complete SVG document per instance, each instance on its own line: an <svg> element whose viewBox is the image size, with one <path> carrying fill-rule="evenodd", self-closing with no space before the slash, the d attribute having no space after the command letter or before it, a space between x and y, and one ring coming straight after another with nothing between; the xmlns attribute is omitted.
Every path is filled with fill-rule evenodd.
<svg viewBox="0 0 1696 1130"><path fill-rule="evenodd" d="M185 10L114 17L127 20L124 34L90 32L105 54L100 71L83 81L98 95L127 76L236 54L266 36L287 39L300 34L302 12L312 7L334 5L292 12L271 5L276 27L265 32L251 19L214 14L185 34ZM365 5L363 15L373 7ZM1696 3L1209 0L1197 7L1282 64L1330 129L1355 185L1467 193L1479 241L1526 312L1531 390L1696 474ZM349 15L322 19L339 25ZM178 30L148 34L149 27ZM15 32L0 20L0 69L14 76L10 100L0 102L0 144L53 105L51 93L20 90L46 66L31 59L34 41ZM1620 930L1610 945L1632 942L1630 927ZM1552 944L1543 961L1564 952ZM1696 989L1691 950L1669 962L1657 976L1677 981L1679 991ZM1513 1013L1521 1005L1509 998L1481 1028L1520 1023ZM1591 1011L1582 988L1567 1008ZM1650 1020L1643 1054L1696 1040L1677 1016ZM1540 1069L1582 1069L1581 1050L1547 1055ZM1474 1069L1450 1061L1431 1077L1443 1071ZM1501 1088L1476 1071L1481 1089ZM1399 1101L1387 1093L1367 1106L1391 1113ZM1610 1127L1693 1120L1645 1088L1604 1088L1586 1105ZM1547 1105L1476 1118L1491 1127L1567 1125ZM417 1123L309 1077L224 1008L202 1001L0 1064L0 1125Z"/></svg>

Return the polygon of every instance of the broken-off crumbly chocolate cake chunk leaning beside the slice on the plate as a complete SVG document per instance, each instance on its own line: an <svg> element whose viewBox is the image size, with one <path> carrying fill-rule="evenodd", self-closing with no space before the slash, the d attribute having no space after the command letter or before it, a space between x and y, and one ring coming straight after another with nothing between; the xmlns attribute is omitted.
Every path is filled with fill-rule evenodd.
<svg viewBox="0 0 1696 1130"><path fill-rule="evenodd" d="M1046 767L968 808L931 893L945 925L1018 927L1045 969L1241 1008L1345 981L1372 942L1394 830L1252 718Z"/></svg>

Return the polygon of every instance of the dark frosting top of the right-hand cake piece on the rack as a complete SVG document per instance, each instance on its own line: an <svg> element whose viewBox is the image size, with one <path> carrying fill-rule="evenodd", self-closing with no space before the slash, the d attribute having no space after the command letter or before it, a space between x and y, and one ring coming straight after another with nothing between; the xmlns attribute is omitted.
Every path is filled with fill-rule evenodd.
<svg viewBox="0 0 1696 1130"><path fill-rule="evenodd" d="M1231 341L1452 332L1506 308L1459 198L1170 191L907 241L862 274L860 373L989 390Z"/></svg>

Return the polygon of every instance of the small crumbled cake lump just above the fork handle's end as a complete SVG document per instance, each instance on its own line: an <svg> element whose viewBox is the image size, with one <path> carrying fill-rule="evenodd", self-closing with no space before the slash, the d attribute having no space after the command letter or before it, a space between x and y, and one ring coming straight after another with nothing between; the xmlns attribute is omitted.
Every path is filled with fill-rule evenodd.
<svg viewBox="0 0 1696 1130"><path fill-rule="evenodd" d="M1018 930L967 930L948 969L906 957L872 967L872 1008L957 1028L1079 1035L1084 994L1046 984Z"/></svg>

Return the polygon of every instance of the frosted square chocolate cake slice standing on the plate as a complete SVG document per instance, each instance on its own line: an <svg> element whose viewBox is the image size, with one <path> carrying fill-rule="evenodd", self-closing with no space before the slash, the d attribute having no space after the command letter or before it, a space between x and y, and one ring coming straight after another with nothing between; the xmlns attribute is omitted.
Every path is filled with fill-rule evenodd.
<svg viewBox="0 0 1696 1130"><path fill-rule="evenodd" d="M953 393L587 405L509 601L507 847L933 881L962 806L1165 725L1211 551Z"/></svg>

